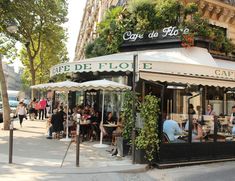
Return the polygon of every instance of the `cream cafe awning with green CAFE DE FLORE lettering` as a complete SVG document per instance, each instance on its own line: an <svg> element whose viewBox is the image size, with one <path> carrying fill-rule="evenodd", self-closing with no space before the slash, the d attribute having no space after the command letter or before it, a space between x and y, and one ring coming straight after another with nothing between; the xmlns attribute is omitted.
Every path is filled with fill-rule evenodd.
<svg viewBox="0 0 235 181"><path fill-rule="evenodd" d="M167 74L171 77L183 75L187 81L191 80L192 77L200 78L199 80L205 79L205 82L213 79L213 82L225 81L233 84L235 81L235 62L214 59L207 49L199 47L124 52L68 62L52 67L50 75L76 72L132 71L135 54L138 54L138 70L145 72L145 74L147 72L151 75L154 73L157 75ZM196 84L195 82L192 83ZM215 85L212 83L207 85L209 84ZM226 87L222 82L219 85Z"/></svg>

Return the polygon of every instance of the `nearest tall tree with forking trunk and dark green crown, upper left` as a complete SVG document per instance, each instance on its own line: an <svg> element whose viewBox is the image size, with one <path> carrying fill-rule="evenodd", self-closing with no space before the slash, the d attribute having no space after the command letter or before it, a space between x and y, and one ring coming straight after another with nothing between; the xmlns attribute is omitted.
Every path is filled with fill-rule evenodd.
<svg viewBox="0 0 235 181"><path fill-rule="evenodd" d="M37 71L43 65L40 53L45 50L46 43L43 40L53 30L59 28L67 21L66 0L2 0L0 3L0 26L5 34L25 45L27 64L31 76L31 85L35 85ZM14 21L18 25L17 34L9 34L6 31L7 24ZM50 37L47 37L50 38ZM34 97L34 91L32 91Z"/></svg>

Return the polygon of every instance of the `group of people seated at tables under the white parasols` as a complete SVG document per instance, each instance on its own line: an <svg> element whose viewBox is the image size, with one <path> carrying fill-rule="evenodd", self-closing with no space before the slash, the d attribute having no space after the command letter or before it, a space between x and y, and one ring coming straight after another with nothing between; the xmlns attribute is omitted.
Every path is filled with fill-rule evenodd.
<svg viewBox="0 0 235 181"><path fill-rule="evenodd" d="M52 133L63 132L66 130L66 119L67 119L67 106L60 106L53 110L52 116L49 118L49 136L52 138ZM120 119L118 120L112 112L105 114L103 124L115 124L117 127L104 127L101 124L101 113L95 111L91 106L76 106L72 110L68 110L68 130L69 136L71 136L72 131L76 130L77 123L80 121L80 135L81 139L93 141L98 140L100 131L103 132L104 136L112 137L113 133L121 132Z"/></svg>

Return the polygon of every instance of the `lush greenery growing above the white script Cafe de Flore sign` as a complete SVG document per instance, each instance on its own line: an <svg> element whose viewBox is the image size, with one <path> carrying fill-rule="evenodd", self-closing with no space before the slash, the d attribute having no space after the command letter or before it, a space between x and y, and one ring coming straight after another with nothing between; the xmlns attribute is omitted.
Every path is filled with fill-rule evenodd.
<svg viewBox="0 0 235 181"><path fill-rule="evenodd" d="M107 55L119 51L123 42L122 35L126 31L146 33L168 26L189 28L190 33L203 39L217 41L213 46L222 47L223 51L232 52L234 46L223 36L220 37L210 27L209 21L202 18L195 3L183 5L178 0L132 0L125 8L116 7L106 12L105 19L100 23L99 37L87 45L87 58Z"/></svg>

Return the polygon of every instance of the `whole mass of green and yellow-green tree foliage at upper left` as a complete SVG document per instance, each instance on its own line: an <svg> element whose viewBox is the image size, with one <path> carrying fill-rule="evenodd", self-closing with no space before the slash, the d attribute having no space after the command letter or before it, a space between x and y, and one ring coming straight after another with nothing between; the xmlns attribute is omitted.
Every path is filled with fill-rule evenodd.
<svg viewBox="0 0 235 181"><path fill-rule="evenodd" d="M21 59L29 69L26 73L31 85L40 78L39 67L48 72L52 64L66 59L66 36L61 26L67 21L66 0L1 0L0 14L1 33L25 45ZM18 26L15 34L7 31L12 22Z"/></svg>

